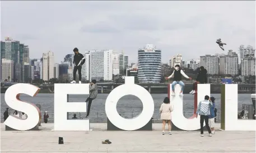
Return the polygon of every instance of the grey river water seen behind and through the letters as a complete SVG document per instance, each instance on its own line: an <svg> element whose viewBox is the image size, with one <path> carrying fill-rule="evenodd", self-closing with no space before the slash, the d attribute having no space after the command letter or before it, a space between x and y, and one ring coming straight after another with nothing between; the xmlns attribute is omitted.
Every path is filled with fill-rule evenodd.
<svg viewBox="0 0 256 153"><path fill-rule="evenodd" d="M162 104L162 101L166 97L167 94L151 94L153 101L155 103L155 113L153 118L160 118L159 108ZM69 102L85 102L85 99L88 95L69 95ZM211 96L215 97L215 103L217 112L220 113L220 98L221 94L211 94ZM91 115L90 122L105 122L105 101L108 97L108 94L98 94L97 98L92 102L91 106ZM49 112L49 122L53 122L54 116L54 94L48 93L40 93L36 95L36 97L30 97L29 95L22 94L21 100L26 102L31 102L34 104L41 105L41 112L44 111ZM203 99L204 97L202 97ZM194 108L194 96L190 94L184 94L183 96L183 111L184 116L189 117L193 113ZM242 110L242 104L252 104L252 99L250 98L250 94L238 94L238 111ZM4 101L4 94L1 93L1 122L3 120L3 112L6 109L7 104ZM10 108L9 108L10 109ZM134 95L125 95L121 99L119 99L117 104L117 110L121 114L122 117L132 118L137 116L142 111L142 103L141 101L135 97ZM13 110L10 110L10 113L13 113ZM85 113L76 112L78 118L84 118ZM72 118L73 113L69 113L68 117Z"/></svg>

